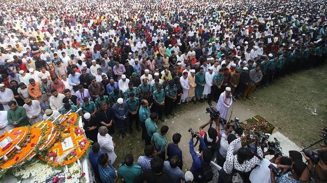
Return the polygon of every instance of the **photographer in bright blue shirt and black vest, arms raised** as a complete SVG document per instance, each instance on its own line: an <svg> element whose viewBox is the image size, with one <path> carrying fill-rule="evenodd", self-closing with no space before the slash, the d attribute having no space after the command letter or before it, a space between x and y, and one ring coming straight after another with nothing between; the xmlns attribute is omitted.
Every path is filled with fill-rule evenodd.
<svg viewBox="0 0 327 183"><path fill-rule="evenodd" d="M201 138L200 134L196 133L197 138L200 141L200 148L202 149L200 156L198 157L194 151L193 135L192 133L190 134L191 134L191 139L189 145L190 145L190 153L193 159L191 172L194 175L194 181L196 182L211 181L212 177L209 177L207 175L212 174L213 176L213 172L210 166L211 159L213 158L212 152L206 148L204 140Z"/></svg>

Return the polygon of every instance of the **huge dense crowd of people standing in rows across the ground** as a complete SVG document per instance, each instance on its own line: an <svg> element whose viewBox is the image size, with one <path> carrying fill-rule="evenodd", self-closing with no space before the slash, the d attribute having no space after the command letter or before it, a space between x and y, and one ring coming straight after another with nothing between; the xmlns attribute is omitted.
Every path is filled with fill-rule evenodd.
<svg viewBox="0 0 327 183"><path fill-rule="evenodd" d="M126 155L118 169L125 182L201 182L213 156L222 175L250 172L262 162L260 148L259 157L250 157L249 149L236 150L240 139L229 135L229 127L220 133L217 123L204 132L208 122L200 127L200 157L190 140L194 162L184 178L180 134L173 135L165 161L169 127L158 129L157 121L204 100L217 102L226 120L232 100L249 100L253 90L327 58L323 0L13 0L0 9L0 110L8 120L0 130L81 108L86 135L97 142L91 163L103 182L118 177L112 135L123 139L134 129L142 130L145 156L136 165ZM294 182L303 163L291 162L284 178Z"/></svg>

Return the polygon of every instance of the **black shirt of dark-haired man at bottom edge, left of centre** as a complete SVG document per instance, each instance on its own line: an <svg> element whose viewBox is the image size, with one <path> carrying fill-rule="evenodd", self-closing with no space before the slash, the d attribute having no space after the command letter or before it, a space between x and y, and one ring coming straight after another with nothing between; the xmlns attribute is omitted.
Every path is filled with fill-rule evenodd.
<svg viewBox="0 0 327 183"><path fill-rule="evenodd" d="M135 177L134 182L144 182L146 180L148 183L168 183L170 182L168 176L164 173L161 173L160 175L154 174L152 170L145 170L141 175L138 177Z"/></svg>

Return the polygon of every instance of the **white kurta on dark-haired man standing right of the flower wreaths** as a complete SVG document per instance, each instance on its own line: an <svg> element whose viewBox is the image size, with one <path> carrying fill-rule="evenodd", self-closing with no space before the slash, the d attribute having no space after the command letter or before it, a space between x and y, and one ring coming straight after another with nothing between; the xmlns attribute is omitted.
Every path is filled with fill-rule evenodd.
<svg viewBox="0 0 327 183"><path fill-rule="evenodd" d="M98 143L100 145L100 152L108 154L110 164L112 165L117 157L117 155L114 153L112 137L108 133L106 136L102 136L100 133L98 133Z"/></svg>

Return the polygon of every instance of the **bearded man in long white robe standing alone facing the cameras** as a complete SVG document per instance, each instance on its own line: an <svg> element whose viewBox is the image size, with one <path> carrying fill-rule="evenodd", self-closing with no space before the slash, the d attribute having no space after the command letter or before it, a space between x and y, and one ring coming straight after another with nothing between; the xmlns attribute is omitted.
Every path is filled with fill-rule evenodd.
<svg viewBox="0 0 327 183"><path fill-rule="evenodd" d="M231 98L231 89L230 87L226 87L225 91L220 94L218 103L217 103L217 110L220 112L220 117L227 120L228 110L232 103Z"/></svg>

